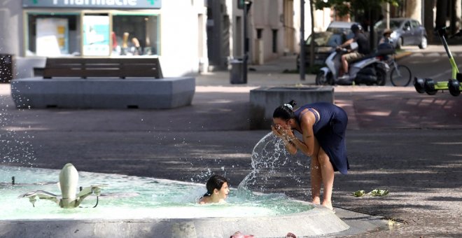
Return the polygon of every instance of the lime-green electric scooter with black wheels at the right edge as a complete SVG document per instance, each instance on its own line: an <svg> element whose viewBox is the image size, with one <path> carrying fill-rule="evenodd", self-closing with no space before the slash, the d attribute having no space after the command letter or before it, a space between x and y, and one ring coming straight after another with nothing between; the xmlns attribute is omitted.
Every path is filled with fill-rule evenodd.
<svg viewBox="0 0 462 238"><path fill-rule="evenodd" d="M462 90L462 73L458 72L454 57L452 57L451 50L449 50L446 41L446 30L447 27L442 27L437 30L438 36L440 36L441 42L446 50L447 56L449 57L449 63L451 64L452 75L448 81L436 82L431 78L414 78L414 87L419 93L426 92L429 95L434 95L438 90L449 90L452 96L458 96ZM461 31L459 31L461 32Z"/></svg>

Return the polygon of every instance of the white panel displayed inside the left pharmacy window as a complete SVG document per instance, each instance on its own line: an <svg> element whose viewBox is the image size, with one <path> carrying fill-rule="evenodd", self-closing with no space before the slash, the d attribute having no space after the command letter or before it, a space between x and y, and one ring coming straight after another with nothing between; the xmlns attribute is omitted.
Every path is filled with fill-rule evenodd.
<svg viewBox="0 0 462 238"><path fill-rule="evenodd" d="M69 54L69 27L66 18L37 18L36 55Z"/></svg>

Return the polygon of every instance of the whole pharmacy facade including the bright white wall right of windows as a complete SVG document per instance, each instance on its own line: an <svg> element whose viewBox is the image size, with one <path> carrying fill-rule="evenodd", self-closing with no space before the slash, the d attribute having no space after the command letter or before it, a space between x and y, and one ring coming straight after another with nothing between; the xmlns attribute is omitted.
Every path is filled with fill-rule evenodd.
<svg viewBox="0 0 462 238"><path fill-rule="evenodd" d="M47 57L159 57L164 76L207 69L204 0L18 0L0 4L0 55L15 78Z"/></svg>

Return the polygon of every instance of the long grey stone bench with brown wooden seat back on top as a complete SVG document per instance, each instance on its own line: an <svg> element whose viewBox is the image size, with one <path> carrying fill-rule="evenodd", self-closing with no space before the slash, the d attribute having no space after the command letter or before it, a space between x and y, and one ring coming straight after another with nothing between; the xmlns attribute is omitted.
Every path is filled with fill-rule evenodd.
<svg viewBox="0 0 462 238"><path fill-rule="evenodd" d="M172 109L194 93L195 78L163 78L158 58L48 58L43 78L11 81L18 108Z"/></svg>

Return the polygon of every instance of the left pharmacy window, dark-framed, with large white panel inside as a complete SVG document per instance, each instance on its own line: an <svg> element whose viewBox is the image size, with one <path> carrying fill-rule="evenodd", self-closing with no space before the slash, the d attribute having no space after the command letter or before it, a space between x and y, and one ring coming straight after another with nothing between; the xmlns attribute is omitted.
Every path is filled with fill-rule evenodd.
<svg viewBox="0 0 462 238"><path fill-rule="evenodd" d="M78 13L29 13L26 55L80 55Z"/></svg>

